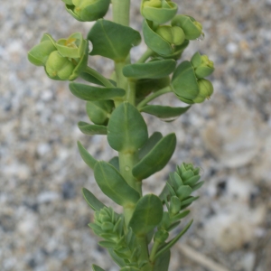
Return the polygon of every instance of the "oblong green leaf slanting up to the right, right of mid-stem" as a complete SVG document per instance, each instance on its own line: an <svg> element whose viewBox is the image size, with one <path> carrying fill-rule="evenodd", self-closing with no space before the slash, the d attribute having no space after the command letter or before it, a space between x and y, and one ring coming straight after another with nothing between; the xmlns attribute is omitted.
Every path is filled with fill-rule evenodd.
<svg viewBox="0 0 271 271"><path fill-rule="evenodd" d="M138 164L135 164L132 171L135 178L143 180L162 170L171 159L175 146L175 134L164 136Z"/></svg>

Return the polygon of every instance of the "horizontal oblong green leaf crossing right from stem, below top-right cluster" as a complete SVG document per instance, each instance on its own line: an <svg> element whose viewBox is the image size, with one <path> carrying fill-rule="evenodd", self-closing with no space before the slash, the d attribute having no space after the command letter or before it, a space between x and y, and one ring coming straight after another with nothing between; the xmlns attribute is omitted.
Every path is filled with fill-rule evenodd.
<svg viewBox="0 0 271 271"><path fill-rule="evenodd" d="M170 75L176 67L176 61L150 61L126 65L123 69L124 76L133 79L160 79Z"/></svg>

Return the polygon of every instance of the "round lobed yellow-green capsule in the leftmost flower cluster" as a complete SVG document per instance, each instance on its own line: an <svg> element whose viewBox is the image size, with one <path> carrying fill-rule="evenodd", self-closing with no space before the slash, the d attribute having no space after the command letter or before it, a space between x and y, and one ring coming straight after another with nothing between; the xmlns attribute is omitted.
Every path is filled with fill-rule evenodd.
<svg viewBox="0 0 271 271"><path fill-rule="evenodd" d="M45 70L51 79L68 80L74 70L74 65L58 51L52 51L45 65Z"/></svg>

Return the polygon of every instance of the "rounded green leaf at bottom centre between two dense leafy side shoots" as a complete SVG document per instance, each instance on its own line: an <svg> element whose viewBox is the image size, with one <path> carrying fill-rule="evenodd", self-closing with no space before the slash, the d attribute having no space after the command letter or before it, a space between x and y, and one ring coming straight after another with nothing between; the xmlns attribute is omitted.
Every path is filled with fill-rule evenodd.
<svg viewBox="0 0 271 271"><path fill-rule="evenodd" d="M163 218L163 205L154 194L147 194L135 205L129 227L137 236L142 236L154 229Z"/></svg>

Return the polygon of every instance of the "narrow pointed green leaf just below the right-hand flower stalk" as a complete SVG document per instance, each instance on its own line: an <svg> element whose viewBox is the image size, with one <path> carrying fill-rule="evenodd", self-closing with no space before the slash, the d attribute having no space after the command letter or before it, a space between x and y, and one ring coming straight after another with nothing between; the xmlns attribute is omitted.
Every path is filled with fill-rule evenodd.
<svg viewBox="0 0 271 271"><path fill-rule="evenodd" d="M142 107L140 111L169 122L185 113L189 108L190 107L145 106Z"/></svg>

